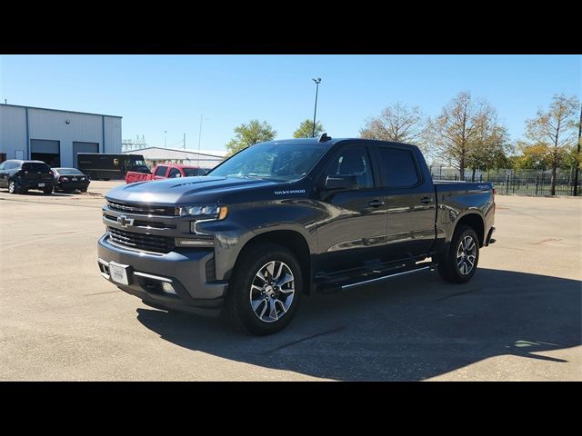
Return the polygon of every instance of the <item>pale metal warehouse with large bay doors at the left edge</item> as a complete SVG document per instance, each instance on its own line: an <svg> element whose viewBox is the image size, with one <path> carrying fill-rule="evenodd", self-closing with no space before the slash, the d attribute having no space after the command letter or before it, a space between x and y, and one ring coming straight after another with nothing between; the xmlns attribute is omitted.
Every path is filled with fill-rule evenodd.
<svg viewBox="0 0 582 436"><path fill-rule="evenodd" d="M121 153L121 116L0 104L0 161L76 167L77 153Z"/></svg>

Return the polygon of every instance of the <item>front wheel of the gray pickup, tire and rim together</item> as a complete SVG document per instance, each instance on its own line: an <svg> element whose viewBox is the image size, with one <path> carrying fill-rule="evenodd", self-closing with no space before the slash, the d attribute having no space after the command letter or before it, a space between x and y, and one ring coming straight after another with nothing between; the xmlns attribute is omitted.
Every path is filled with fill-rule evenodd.
<svg viewBox="0 0 582 436"><path fill-rule="evenodd" d="M258 243L236 265L224 315L249 332L279 332L293 319L303 292L301 268L293 253L274 243Z"/></svg>

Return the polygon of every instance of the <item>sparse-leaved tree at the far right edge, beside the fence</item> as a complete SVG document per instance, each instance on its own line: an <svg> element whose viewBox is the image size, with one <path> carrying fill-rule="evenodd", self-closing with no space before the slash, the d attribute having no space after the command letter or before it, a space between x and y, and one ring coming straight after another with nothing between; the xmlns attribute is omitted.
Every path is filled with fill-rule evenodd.
<svg viewBox="0 0 582 436"><path fill-rule="evenodd" d="M538 109L536 116L526 121L527 139L544 150L552 167L552 195L556 195L557 168L576 144L578 104L575 96L555 94L547 110Z"/></svg>

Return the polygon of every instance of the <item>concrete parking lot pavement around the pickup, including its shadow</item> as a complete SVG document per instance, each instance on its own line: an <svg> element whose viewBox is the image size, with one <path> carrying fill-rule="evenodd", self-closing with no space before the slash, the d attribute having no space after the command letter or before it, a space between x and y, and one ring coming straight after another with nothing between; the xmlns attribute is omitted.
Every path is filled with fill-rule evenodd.
<svg viewBox="0 0 582 436"><path fill-rule="evenodd" d="M420 272L317 294L259 338L100 276L115 184L0 189L0 380L582 380L580 199L497 195L497 243L471 282Z"/></svg>

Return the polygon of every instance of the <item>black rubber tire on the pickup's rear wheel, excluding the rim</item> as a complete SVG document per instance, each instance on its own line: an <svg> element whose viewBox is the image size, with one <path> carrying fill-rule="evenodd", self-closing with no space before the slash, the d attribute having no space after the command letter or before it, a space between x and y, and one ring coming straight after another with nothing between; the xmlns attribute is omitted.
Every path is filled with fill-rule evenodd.
<svg viewBox="0 0 582 436"><path fill-rule="evenodd" d="M457 262L457 253L460 250L460 244L466 243L467 238L472 239L472 243L475 244L475 254L474 263L470 268L470 271L462 271L462 266L459 267ZM472 248L472 247L471 247ZM468 268L467 258L470 256L465 256L462 260L465 260L465 264ZM443 278L443 280L451 283L467 283L473 277L473 274L477 271L477 263L479 263L479 239L477 238L477 233L472 227L467 225L459 225L455 230L453 239L450 243L447 258L442 262L438 263L438 273Z"/></svg>

